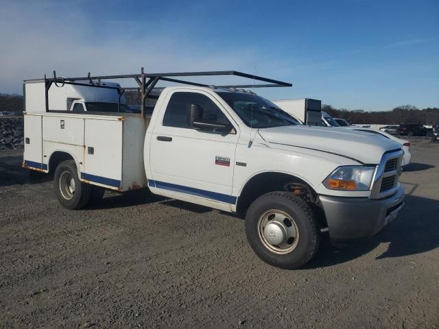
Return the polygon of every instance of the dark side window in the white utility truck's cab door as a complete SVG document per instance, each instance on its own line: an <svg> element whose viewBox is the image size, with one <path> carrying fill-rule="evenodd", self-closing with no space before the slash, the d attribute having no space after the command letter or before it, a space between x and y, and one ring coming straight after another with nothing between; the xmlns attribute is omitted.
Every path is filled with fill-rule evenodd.
<svg viewBox="0 0 439 329"><path fill-rule="evenodd" d="M172 94L163 125L167 127L178 127L192 129L187 125L187 109L191 104L202 107L202 121L207 123L229 123L228 119L209 97L200 93L177 92Z"/></svg>

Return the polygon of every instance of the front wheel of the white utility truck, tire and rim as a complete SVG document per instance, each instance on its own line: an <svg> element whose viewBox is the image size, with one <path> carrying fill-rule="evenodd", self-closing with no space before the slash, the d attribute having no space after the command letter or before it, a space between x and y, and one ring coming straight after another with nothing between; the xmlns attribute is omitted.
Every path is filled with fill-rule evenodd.
<svg viewBox="0 0 439 329"><path fill-rule="evenodd" d="M265 263L296 269L316 254L316 219L305 201L288 192L272 192L256 199L246 214L250 246Z"/></svg>

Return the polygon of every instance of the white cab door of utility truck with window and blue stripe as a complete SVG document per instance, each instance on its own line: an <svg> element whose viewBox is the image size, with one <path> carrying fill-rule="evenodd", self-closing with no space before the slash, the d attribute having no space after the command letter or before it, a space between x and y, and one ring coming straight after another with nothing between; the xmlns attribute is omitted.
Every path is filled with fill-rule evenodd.
<svg viewBox="0 0 439 329"><path fill-rule="evenodd" d="M235 204L232 186L239 138L235 121L214 97L202 91L174 90L165 104L150 141L152 180L148 184L177 199L191 201L189 196L207 205ZM202 107L204 120L231 123L235 132L220 134L189 127L187 108L191 104Z"/></svg>

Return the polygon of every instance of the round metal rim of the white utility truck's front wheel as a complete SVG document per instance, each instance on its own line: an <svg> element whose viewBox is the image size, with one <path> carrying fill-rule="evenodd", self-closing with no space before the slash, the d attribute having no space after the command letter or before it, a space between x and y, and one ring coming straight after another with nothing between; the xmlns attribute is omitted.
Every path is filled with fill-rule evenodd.
<svg viewBox="0 0 439 329"><path fill-rule="evenodd" d="M299 230L296 221L282 210L268 210L258 220L259 239L275 254L288 254L296 247Z"/></svg>

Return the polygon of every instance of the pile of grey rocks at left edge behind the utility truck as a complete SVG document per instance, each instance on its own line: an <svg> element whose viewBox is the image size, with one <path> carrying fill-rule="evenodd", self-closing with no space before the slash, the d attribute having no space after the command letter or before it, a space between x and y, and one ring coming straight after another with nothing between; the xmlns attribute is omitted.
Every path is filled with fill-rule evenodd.
<svg viewBox="0 0 439 329"><path fill-rule="evenodd" d="M23 147L23 122L23 118L0 118L0 149Z"/></svg>

